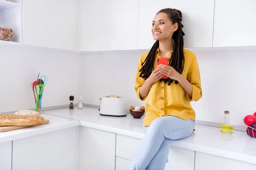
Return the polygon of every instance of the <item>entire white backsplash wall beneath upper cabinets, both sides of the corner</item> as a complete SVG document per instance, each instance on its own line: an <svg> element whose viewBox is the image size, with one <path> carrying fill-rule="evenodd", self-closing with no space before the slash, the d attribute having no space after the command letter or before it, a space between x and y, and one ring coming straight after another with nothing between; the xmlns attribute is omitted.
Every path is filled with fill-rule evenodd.
<svg viewBox="0 0 256 170"><path fill-rule="evenodd" d="M195 51L201 72L203 97L192 102L196 119L221 122L225 110L230 122L243 125L245 115L256 111L256 51ZM47 75L42 107L68 105L69 96L99 105L100 98L119 95L126 107L142 106L134 78L135 54L76 54L19 47L0 47L0 113L34 107L30 83L38 72Z"/></svg>

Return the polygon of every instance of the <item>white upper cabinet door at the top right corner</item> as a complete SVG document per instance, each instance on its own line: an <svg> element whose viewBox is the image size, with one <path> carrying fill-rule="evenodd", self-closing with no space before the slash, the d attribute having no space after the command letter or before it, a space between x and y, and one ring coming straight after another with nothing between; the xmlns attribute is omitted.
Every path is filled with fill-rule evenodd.
<svg viewBox="0 0 256 170"><path fill-rule="evenodd" d="M256 0L215 0L213 46L256 45Z"/></svg>

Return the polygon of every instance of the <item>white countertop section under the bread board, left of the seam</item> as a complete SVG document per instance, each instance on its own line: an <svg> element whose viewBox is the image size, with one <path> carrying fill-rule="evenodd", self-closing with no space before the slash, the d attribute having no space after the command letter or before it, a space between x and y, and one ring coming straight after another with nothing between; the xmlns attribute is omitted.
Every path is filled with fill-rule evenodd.
<svg viewBox="0 0 256 170"><path fill-rule="evenodd" d="M56 130L62 130L70 127L79 126L80 122L73 119L66 119L58 116L41 113L44 119L49 119L48 124L26 127L23 129L11 130L0 133L0 143L12 140L22 139L29 136L35 136L43 133L49 133Z"/></svg>

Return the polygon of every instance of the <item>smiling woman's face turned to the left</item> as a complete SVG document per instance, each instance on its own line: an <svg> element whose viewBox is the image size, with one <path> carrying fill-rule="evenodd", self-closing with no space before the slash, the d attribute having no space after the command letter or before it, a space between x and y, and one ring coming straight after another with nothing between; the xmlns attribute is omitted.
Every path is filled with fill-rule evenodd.
<svg viewBox="0 0 256 170"><path fill-rule="evenodd" d="M152 21L152 35L154 40L172 40L172 34L177 30L177 23L172 24L166 13L160 12Z"/></svg>

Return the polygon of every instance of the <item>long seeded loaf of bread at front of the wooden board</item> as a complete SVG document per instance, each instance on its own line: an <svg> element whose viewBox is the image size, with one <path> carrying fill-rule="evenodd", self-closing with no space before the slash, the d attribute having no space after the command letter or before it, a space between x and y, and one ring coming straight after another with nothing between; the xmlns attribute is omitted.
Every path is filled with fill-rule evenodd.
<svg viewBox="0 0 256 170"><path fill-rule="evenodd" d="M0 126L27 126L44 122L41 116L0 114Z"/></svg>

